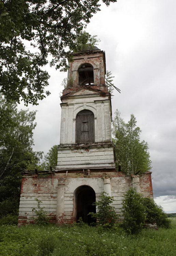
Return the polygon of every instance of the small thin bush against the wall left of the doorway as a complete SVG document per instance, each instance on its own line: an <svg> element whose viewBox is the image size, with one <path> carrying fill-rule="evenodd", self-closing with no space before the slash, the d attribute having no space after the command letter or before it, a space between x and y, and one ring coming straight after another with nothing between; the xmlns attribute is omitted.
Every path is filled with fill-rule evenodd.
<svg viewBox="0 0 176 256"><path fill-rule="evenodd" d="M39 225L48 224L49 218L46 215L46 211L44 210L45 207L40 206L42 201L40 201L37 198L35 198L35 201L37 202L37 207L38 207L38 210L36 210L35 208L32 209L34 211L34 213L36 214L35 224L39 224Z"/></svg>

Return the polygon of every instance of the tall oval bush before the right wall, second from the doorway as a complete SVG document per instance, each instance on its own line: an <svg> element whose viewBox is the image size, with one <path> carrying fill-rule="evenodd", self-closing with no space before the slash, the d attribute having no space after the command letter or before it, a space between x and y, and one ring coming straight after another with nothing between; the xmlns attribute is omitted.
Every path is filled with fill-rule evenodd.
<svg viewBox="0 0 176 256"><path fill-rule="evenodd" d="M144 225L146 214L142 196L130 188L122 201L123 229L129 234L138 234Z"/></svg>

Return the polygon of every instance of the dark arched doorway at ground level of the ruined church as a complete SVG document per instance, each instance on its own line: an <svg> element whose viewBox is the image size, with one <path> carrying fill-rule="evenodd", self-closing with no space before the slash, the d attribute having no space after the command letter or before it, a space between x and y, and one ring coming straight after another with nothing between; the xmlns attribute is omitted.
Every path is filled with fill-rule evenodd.
<svg viewBox="0 0 176 256"><path fill-rule="evenodd" d="M90 224L95 222L94 219L88 215L89 212L96 213L96 206L92 205L96 202L96 194L93 188L83 185L78 187L74 192L74 217L75 220L81 217L84 222Z"/></svg>

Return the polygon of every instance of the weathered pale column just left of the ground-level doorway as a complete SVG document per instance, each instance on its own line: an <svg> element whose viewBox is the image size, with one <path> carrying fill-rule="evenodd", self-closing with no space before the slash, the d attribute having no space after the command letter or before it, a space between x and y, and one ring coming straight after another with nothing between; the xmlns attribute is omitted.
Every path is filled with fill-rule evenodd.
<svg viewBox="0 0 176 256"><path fill-rule="evenodd" d="M58 180L57 188L57 219L61 221L61 218L64 214L64 190L65 190L65 181L64 179Z"/></svg>

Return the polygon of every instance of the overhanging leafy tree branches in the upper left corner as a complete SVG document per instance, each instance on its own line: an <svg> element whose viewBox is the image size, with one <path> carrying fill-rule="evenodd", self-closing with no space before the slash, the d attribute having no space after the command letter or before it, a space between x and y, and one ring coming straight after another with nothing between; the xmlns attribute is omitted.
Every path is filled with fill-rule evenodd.
<svg viewBox="0 0 176 256"><path fill-rule="evenodd" d="M117 0L103 0L107 6ZM70 53L99 0L2 0L0 2L0 93L7 100L38 104L45 91L47 63L66 71ZM92 44L96 37L92 39ZM51 60L48 60L51 56Z"/></svg>

